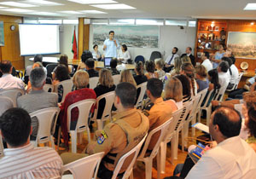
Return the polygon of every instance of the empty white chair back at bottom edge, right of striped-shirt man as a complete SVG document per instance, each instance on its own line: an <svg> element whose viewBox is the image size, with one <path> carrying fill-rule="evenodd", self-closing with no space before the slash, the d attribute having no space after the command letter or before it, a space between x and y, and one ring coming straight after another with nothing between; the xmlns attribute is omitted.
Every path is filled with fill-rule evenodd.
<svg viewBox="0 0 256 179"><path fill-rule="evenodd" d="M96 178L104 153L95 153L64 165L63 171L70 170L73 179Z"/></svg>

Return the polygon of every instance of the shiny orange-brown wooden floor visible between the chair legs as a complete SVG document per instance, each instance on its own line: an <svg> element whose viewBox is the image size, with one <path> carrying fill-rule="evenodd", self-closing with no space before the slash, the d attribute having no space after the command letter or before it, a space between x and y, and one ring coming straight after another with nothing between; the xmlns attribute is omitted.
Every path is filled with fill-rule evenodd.
<svg viewBox="0 0 256 179"><path fill-rule="evenodd" d="M201 123L206 124L207 120L201 118ZM94 137L94 131L96 130L96 124L93 124L93 130L90 132L90 138L93 139ZM195 137L196 136L201 136L203 133L201 130L195 130ZM192 130L191 128L189 129L189 136L192 136ZM88 136L86 133L83 134L83 140L81 144L77 145L77 153L84 153L84 148L88 144L87 140ZM71 141L68 142L69 144L69 151L65 147L60 147L59 154L61 153L71 153ZM181 137L179 137L179 144L181 144ZM195 144L195 141L188 141L188 147L192 144ZM55 146L56 147L56 146ZM182 152L181 149L177 149L177 159L174 159L174 165L171 163L171 156L172 156L172 151L171 151L171 144L167 145L167 151L166 151L166 173L165 174L160 174L160 178L163 179L167 176L172 176L173 175L173 170L175 169L177 164L183 164L187 152ZM136 167L133 170L133 176L135 179L144 179L145 178L145 165L143 162L138 161ZM156 179L157 178L157 165L156 165L156 158L153 161L153 168L152 168L152 178Z"/></svg>

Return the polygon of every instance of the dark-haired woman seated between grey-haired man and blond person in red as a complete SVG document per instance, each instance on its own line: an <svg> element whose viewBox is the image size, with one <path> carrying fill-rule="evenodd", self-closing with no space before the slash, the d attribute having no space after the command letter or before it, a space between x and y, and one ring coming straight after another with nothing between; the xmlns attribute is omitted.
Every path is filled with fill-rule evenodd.
<svg viewBox="0 0 256 179"><path fill-rule="evenodd" d="M67 70L67 66L65 65L58 65L56 68L55 68L55 75L53 76L53 81L52 81L52 84L54 86L56 86L57 84L59 84L61 81L64 81L64 80L67 80L67 79L70 79L70 76L69 76L69 72ZM55 89L55 88L54 88ZM62 95L63 95L63 86L60 85L57 89L58 91L55 91L58 93L58 102L61 102L62 100Z"/></svg>

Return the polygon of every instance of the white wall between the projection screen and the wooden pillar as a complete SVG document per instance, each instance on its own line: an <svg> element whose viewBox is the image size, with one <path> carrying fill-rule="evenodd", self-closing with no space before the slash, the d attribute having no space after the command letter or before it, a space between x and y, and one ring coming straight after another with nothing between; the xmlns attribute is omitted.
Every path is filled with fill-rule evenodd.
<svg viewBox="0 0 256 179"><path fill-rule="evenodd" d="M78 36L79 36L79 30L78 25L61 25L60 26L60 51L61 55L67 55L69 59L73 59L73 53L72 53L72 39L73 39L73 30L76 30L76 38L77 38L77 45L79 45ZM78 50L79 53L79 50ZM60 55L47 55L47 56L55 56L59 57ZM25 57L25 67L32 65L32 61L28 61L29 58L32 58L33 56L26 56ZM79 56L78 56L79 58Z"/></svg>

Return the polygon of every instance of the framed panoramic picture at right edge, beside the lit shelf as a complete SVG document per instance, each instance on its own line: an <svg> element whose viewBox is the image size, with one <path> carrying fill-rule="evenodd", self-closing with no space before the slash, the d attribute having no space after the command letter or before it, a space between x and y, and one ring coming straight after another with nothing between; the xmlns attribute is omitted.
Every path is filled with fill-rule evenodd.
<svg viewBox="0 0 256 179"><path fill-rule="evenodd" d="M236 58L256 59L256 32L229 32L227 47Z"/></svg>

